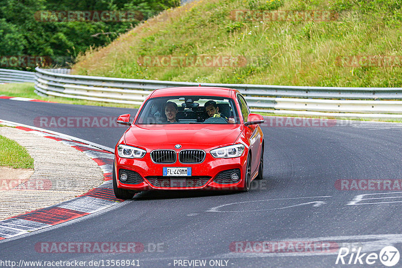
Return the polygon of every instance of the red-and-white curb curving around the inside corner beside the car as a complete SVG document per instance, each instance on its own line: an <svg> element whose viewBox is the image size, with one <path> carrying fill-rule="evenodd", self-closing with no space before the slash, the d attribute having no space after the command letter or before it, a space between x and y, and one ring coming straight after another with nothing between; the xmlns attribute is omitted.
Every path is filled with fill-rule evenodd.
<svg viewBox="0 0 402 268"><path fill-rule="evenodd" d="M34 210L0 221L0 240L50 227L72 219L83 217L117 205L124 200L116 198L113 191L113 149L63 135L54 131L1 120L0 124L15 126L37 135L64 143L83 152L95 161L104 172L105 182L87 193L59 204Z"/></svg>

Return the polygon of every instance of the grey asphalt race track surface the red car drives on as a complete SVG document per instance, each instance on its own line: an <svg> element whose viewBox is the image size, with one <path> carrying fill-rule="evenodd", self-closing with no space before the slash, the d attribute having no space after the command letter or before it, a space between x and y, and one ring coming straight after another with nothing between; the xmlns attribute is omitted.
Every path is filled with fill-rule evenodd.
<svg viewBox="0 0 402 268"><path fill-rule="evenodd" d="M38 116L135 112L0 99L1 119L28 125L35 125ZM126 129L42 127L111 148ZM367 254L391 245L400 251L402 190L338 190L335 185L337 180L402 179L401 130L402 124L370 122L263 127L264 179L254 181L250 192L143 192L100 213L1 241L0 259L92 260L105 266L108 260L138 260L141 267L200 266L179 265L190 263L180 260L206 260L200 267L334 267L353 266L335 264L341 246L361 247ZM265 252L261 241L282 241L282 247ZM144 247L137 253L45 253L38 247L56 242L139 242ZM292 249L296 243L303 246ZM379 259L355 266L384 267Z"/></svg>

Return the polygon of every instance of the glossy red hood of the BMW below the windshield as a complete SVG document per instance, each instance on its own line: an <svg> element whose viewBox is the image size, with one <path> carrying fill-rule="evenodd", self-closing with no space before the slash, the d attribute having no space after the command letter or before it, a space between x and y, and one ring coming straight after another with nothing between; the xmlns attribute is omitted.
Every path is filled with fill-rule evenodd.
<svg viewBox="0 0 402 268"><path fill-rule="evenodd" d="M155 124L131 125L125 135L127 145L208 145L221 146L233 144L240 136L239 124Z"/></svg>

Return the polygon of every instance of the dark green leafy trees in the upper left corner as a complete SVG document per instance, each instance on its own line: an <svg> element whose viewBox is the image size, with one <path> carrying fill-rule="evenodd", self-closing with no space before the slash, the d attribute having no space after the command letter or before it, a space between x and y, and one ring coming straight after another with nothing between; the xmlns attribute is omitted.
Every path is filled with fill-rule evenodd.
<svg viewBox="0 0 402 268"><path fill-rule="evenodd" d="M136 11L147 20L179 4L178 0L0 0L0 56L46 56L71 63L79 53L107 45L140 23L40 22L35 20L37 11ZM92 36L97 33L111 34Z"/></svg>

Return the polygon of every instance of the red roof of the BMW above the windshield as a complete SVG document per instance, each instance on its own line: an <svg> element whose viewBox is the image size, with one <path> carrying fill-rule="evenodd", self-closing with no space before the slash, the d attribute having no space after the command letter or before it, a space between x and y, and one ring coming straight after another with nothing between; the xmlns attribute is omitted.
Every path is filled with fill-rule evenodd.
<svg viewBox="0 0 402 268"><path fill-rule="evenodd" d="M168 87L154 90L151 97L154 98L181 95L230 97L231 92L233 91L235 91L235 89L211 86Z"/></svg>

